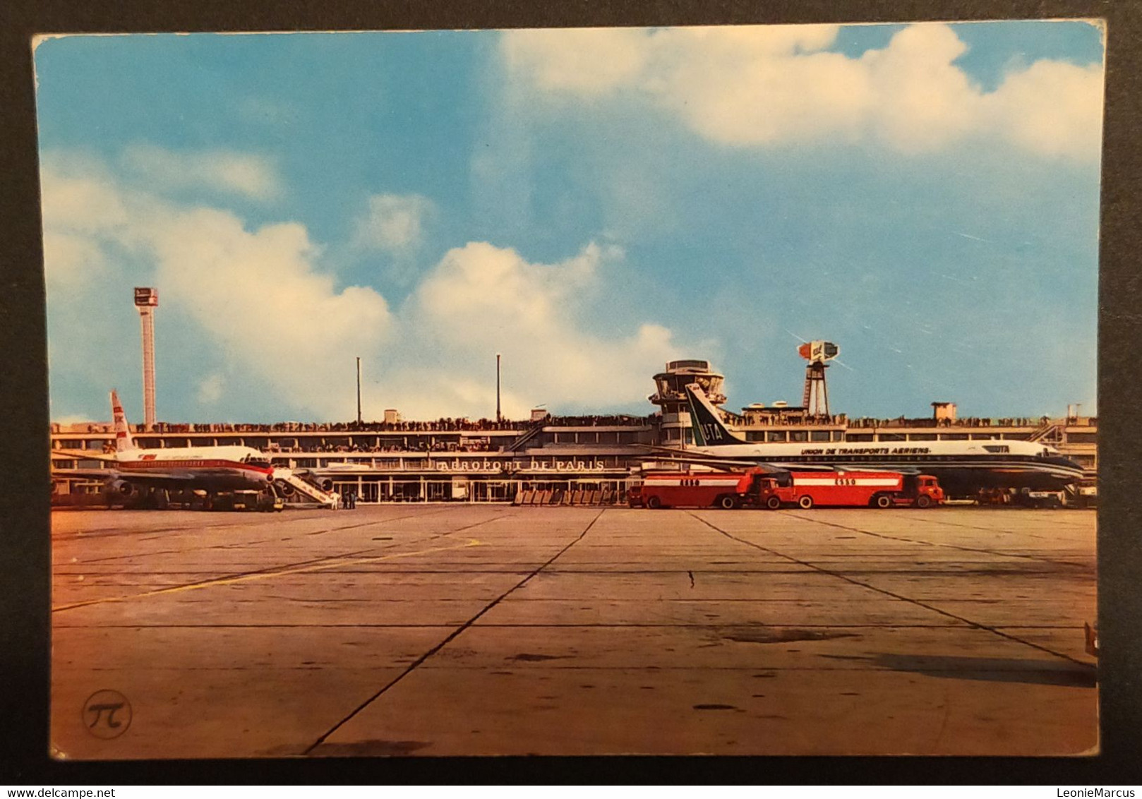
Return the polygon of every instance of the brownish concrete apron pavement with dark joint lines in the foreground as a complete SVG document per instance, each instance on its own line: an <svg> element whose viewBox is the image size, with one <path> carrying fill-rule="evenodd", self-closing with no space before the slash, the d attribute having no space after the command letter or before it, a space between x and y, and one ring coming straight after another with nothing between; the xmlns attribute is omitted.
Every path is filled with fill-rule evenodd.
<svg viewBox="0 0 1142 799"><path fill-rule="evenodd" d="M53 556L57 757L1097 741L1093 511L63 511Z"/></svg>

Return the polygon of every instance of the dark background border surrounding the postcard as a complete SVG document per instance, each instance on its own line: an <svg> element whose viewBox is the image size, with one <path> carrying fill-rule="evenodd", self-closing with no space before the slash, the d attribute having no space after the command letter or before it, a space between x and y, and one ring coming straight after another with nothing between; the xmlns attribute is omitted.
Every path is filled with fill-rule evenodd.
<svg viewBox="0 0 1142 799"><path fill-rule="evenodd" d="M0 784L1142 783L1142 6L1129 0L0 0ZM1102 753L1092 758L407 758L56 762L48 758L47 341L31 38L35 33L418 30L1101 17L1108 21L1099 288ZM1135 132L1139 131L1139 132ZM114 346L108 341L107 346ZM997 346L1003 346L997 342ZM1019 341L1011 341L1018 353ZM1060 354L1060 357L1063 357Z"/></svg>

